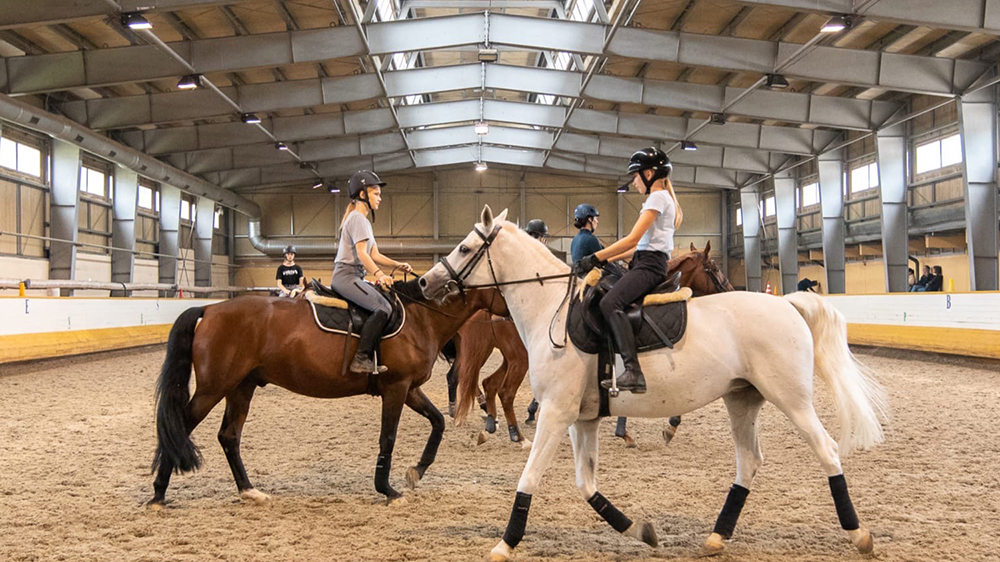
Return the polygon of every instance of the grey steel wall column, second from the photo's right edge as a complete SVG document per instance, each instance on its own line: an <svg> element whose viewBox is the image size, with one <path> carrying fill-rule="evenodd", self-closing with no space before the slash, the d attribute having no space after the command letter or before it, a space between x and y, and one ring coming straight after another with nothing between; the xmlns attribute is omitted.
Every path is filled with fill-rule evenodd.
<svg viewBox="0 0 1000 562"><path fill-rule="evenodd" d="M885 290L906 292L909 226L906 207L906 138L903 125L876 133L879 193L882 197L882 256Z"/></svg>

